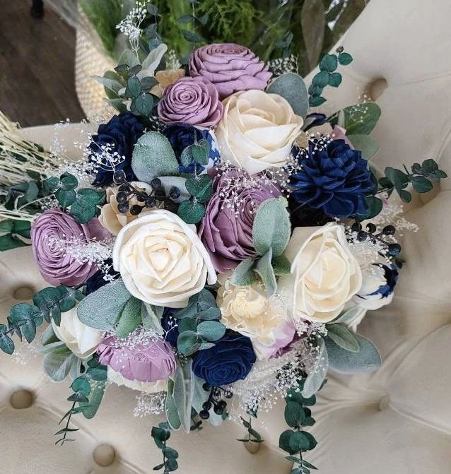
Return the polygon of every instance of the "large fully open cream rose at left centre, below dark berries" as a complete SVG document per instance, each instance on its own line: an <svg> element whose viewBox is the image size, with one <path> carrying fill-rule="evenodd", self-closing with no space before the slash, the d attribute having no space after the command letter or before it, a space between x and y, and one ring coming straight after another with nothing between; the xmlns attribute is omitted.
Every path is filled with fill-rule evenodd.
<svg viewBox="0 0 451 474"><path fill-rule="evenodd" d="M157 306L185 307L206 282L216 283L196 228L163 209L122 227L113 249L113 266L131 295Z"/></svg>

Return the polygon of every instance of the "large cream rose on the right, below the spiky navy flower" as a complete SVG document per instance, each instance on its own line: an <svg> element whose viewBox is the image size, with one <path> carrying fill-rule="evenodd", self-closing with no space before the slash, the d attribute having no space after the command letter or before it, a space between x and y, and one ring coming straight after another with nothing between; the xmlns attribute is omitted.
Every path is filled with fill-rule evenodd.
<svg viewBox="0 0 451 474"><path fill-rule="evenodd" d="M285 254L291 274L279 278L294 319L327 323L360 290L361 268L351 254L344 227L296 227Z"/></svg>

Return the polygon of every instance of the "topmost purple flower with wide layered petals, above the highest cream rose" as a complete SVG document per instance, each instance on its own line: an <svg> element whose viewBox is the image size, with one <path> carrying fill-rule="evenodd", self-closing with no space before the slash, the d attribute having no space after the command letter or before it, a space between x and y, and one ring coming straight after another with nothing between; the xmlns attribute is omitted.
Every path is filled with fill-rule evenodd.
<svg viewBox="0 0 451 474"><path fill-rule="evenodd" d="M271 78L263 61L247 47L234 43L196 49L189 61L189 73L213 83L221 100L239 90L263 90Z"/></svg>

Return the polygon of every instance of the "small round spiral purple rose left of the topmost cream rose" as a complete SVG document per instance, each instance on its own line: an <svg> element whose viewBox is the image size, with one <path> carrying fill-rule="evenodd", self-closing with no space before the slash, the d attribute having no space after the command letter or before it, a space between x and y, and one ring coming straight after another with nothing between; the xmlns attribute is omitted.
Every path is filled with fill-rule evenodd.
<svg viewBox="0 0 451 474"><path fill-rule="evenodd" d="M158 115L165 124L215 126L222 117L223 105L215 86L202 77L181 78L165 88L158 102Z"/></svg>

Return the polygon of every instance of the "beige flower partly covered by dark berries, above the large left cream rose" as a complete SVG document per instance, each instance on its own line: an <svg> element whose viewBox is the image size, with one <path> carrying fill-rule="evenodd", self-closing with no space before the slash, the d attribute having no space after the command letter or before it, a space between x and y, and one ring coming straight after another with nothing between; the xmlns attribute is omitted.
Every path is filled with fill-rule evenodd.
<svg viewBox="0 0 451 474"><path fill-rule="evenodd" d="M150 186L149 184L141 183L139 181L131 182L130 184L141 191L146 191L147 193L152 192L152 186ZM105 229L109 230L112 235L119 234L119 230L121 230L124 225L131 223L132 220L135 220L138 217L137 215L131 215L131 213L129 212L119 213L119 210L117 209L116 200L118 192L119 186L107 188L107 203L102 206L102 211L100 211L99 215L100 224L102 224ZM133 196L130 199L129 207L134 206L134 204L139 204L138 199L136 199L136 196ZM146 210L144 210L143 212L146 212Z"/></svg>

